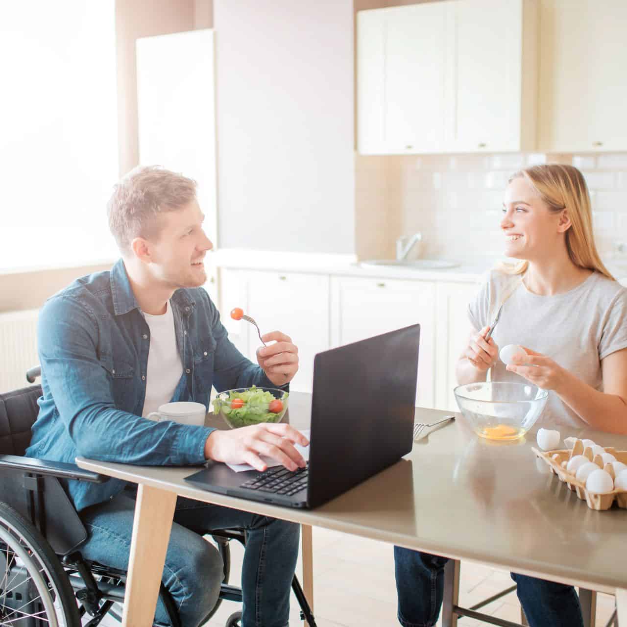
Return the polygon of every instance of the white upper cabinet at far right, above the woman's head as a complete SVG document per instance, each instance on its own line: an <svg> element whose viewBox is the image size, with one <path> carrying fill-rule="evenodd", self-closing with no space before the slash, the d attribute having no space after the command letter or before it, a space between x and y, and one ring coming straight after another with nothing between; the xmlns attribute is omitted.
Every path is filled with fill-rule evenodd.
<svg viewBox="0 0 627 627"><path fill-rule="evenodd" d="M627 3L540 0L539 149L627 149Z"/></svg>

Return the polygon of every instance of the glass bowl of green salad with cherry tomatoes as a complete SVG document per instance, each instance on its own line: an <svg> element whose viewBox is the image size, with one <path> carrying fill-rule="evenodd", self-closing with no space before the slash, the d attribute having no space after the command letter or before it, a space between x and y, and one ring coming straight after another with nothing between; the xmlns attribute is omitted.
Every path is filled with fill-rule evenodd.
<svg viewBox="0 0 627 627"><path fill-rule="evenodd" d="M278 423L287 411L289 393L274 387L239 387L218 394L213 413L231 429L259 423Z"/></svg>

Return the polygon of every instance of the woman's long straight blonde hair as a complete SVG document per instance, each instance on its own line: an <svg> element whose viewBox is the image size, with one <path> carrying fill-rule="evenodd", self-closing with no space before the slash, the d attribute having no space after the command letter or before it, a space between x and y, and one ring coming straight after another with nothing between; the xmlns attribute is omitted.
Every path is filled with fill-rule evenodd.
<svg viewBox="0 0 627 627"><path fill-rule="evenodd" d="M594 244L590 194L583 174L573 166L551 163L527 167L512 174L508 182L519 177L527 179L549 207L558 212L567 209L571 228L566 231L566 250L572 263L579 268L594 270L604 277L616 280L604 266ZM501 263L498 269L510 275L524 273L529 261L514 265Z"/></svg>

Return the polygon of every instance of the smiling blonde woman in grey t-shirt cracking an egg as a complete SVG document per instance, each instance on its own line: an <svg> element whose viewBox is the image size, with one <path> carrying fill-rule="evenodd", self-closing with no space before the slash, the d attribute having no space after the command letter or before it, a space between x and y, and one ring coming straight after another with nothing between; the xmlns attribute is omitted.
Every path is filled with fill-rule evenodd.
<svg viewBox="0 0 627 627"><path fill-rule="evenodd" d="M514 174L500 227L505 254L520 261L493 270L470 303L473 332L456 367L458 382L485 381L492 368L493 381L526 379L550 391L544 426L559 426L564 435L586 426L627 433L627 289L599 258L581 172L550 164ZM522 345L527 356L505 367L498 350L507 344ZM399 547L394 558L400 623L434 625L446 559ZM530 627L583 625L572 586L512 578Z"/></svg>

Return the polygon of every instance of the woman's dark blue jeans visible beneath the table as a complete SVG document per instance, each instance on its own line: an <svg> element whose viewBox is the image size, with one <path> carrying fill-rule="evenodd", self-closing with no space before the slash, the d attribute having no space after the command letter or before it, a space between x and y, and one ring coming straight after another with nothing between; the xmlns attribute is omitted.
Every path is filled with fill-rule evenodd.
<svg viewBox="0 0 627 627"><path fill-rule="evenodd" d="M404 627L433 627L440 615L448 559L394 547L398 619ZM512 572L530 627L583 627L574 587Z"/></svg>

